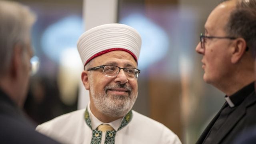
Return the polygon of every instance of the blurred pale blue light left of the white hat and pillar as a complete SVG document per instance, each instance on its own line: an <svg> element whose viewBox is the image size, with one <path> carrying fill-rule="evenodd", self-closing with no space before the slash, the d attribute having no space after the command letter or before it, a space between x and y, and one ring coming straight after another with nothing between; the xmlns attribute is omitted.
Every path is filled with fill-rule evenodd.
<svg viewBox="0 0 256 144"><path fill-rule="evenodd" d="M43 52L55 62L67 48L75 48L79 36L83 33L82 18L76 15L65 17L48 26L42 34Z"/></svg>

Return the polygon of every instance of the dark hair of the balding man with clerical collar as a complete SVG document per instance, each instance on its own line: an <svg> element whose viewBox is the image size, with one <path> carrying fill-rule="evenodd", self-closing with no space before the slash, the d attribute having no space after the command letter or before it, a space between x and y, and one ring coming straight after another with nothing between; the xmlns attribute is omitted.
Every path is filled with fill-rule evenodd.
<svg viewBox="0 0 256 144"><path fill-rule="evenodd" d="M242 37L249 50L255 51L256 42L256 0L238 0L231 12L226 32L230 36Z"/></svg>

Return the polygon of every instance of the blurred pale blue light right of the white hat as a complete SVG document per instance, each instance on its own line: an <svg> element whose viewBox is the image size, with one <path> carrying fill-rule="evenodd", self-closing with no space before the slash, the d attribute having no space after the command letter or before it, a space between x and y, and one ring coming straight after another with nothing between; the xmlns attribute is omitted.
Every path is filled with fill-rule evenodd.
<svg viewBox="0 0 256 144"><path fill-rule="evenodd" d="M139 13L130 14L122 18L120 23L132 26L138 30L142 37L138 68L145 69L167 54L169 48L168 34L144 15Z"/></svg>

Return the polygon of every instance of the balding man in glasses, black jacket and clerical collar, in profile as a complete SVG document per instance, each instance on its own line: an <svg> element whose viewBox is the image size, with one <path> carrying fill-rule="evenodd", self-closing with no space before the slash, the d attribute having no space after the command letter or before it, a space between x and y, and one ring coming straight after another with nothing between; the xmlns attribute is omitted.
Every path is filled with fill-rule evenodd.
<svg viewBox="0 0 256 144"><path fill-rule="evenodd" d="M255 15L256 0L227 0L208 16L196 52L202 54L204 81L226 96L197 144L230 144L256 124Z"/></svg>

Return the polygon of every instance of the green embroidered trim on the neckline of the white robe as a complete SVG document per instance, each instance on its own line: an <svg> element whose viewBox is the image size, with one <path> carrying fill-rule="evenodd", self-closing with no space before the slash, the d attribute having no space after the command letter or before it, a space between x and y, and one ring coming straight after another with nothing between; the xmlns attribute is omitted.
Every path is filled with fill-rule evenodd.
<svg viewBox="0 0 256 144"><path fill-rule="evenodd" d="M89 112L88 112L87 108L84 112L84 120L85 120L86 124L92 130L91 144L100 144L101 139L102 139L102 131L92 129L92 122L91 122L90 115L89 115ZM128 114L126 114L124 116L124 118L121 122L121 125L119 126L117 131L124 128L131 120L132 120L132 110L130 110L130 112L128 112ZM116 130L106 131L106 138L105 138L104 144L114 144L115 143L115 136L116 136L117 131Z"/></svg>

